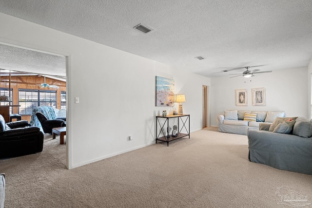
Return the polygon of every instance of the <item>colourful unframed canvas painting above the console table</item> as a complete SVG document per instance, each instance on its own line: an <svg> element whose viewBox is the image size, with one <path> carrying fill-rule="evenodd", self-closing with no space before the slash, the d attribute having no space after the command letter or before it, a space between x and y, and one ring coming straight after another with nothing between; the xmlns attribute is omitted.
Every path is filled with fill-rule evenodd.
<svg viewBox="0 0 312 208"><path fill-rule="evenodd" d="M156 76L156 106L172 106L175 102L175 80Z"/></svg>

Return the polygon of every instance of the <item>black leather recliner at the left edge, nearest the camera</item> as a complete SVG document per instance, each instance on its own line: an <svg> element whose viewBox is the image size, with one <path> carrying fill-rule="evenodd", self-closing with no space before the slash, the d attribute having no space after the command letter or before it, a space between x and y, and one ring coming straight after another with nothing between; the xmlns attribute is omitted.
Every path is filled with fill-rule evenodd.
<svg viewBox="0 0 312 208"><path fill-rule="evenodd" d="M34 154L43 149L43 133L28 121L5 123L0 115L0 158Z"/></svg>

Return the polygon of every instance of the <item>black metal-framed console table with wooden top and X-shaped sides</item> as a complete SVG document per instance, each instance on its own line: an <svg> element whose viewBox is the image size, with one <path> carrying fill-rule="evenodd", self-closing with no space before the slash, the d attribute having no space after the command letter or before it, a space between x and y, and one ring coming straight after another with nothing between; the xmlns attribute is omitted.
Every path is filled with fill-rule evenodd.
<svg viewBox="0 0 312 208"><path fill-rule="evenodd" d="M176 121L174 121L173 123L173 125L175 123L177 125L176 136L169 134L169 119L172 119L172 118L176 118ZM161 123L161 120L164 121L163 124ZM187 125L187 121L188 121L188 125ZM180 122L181 122L181 125L180 125ZM157 126L160 127L159 132L157 131ZM164 128L167 128L166 129L167 133L166 131L164 131L165 130ZM182 133L182 130L185 130L185 131L183 131ZM161 134L164 136L160 137ZM157 140L159 140L159 141L167 142L167 146L169 146L170 141L182 138L184 136L189 136L190 138L190 115L189 114L156 116L156 144L157 144Z"/></svg>

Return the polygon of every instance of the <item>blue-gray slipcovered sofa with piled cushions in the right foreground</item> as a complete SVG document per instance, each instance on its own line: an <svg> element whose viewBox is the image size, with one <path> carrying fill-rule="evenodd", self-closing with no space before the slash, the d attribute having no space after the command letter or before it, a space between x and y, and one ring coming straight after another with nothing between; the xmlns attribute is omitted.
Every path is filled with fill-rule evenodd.
<svg viewBox="0 0 312 208"><path fill-rule="evenodd" d="M301 117L272 128L274 121L272 125L260 124L259 131L248 131L249 160L312 175L311 121Z"/></svg>

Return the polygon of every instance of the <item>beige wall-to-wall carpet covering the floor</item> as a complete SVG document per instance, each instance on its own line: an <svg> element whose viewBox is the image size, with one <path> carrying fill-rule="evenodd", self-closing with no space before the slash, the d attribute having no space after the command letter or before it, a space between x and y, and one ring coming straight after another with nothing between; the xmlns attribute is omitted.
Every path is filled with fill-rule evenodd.
<svg viewBox="0 0 312 208"><path fill-rule="evenodd" d="M283 186L312 202L312 175L249 162L247 136L215 128L73 170L65 168L65 148L50 137L41 153L0 160L5 207L290 207L277 204Z"/></svg>

